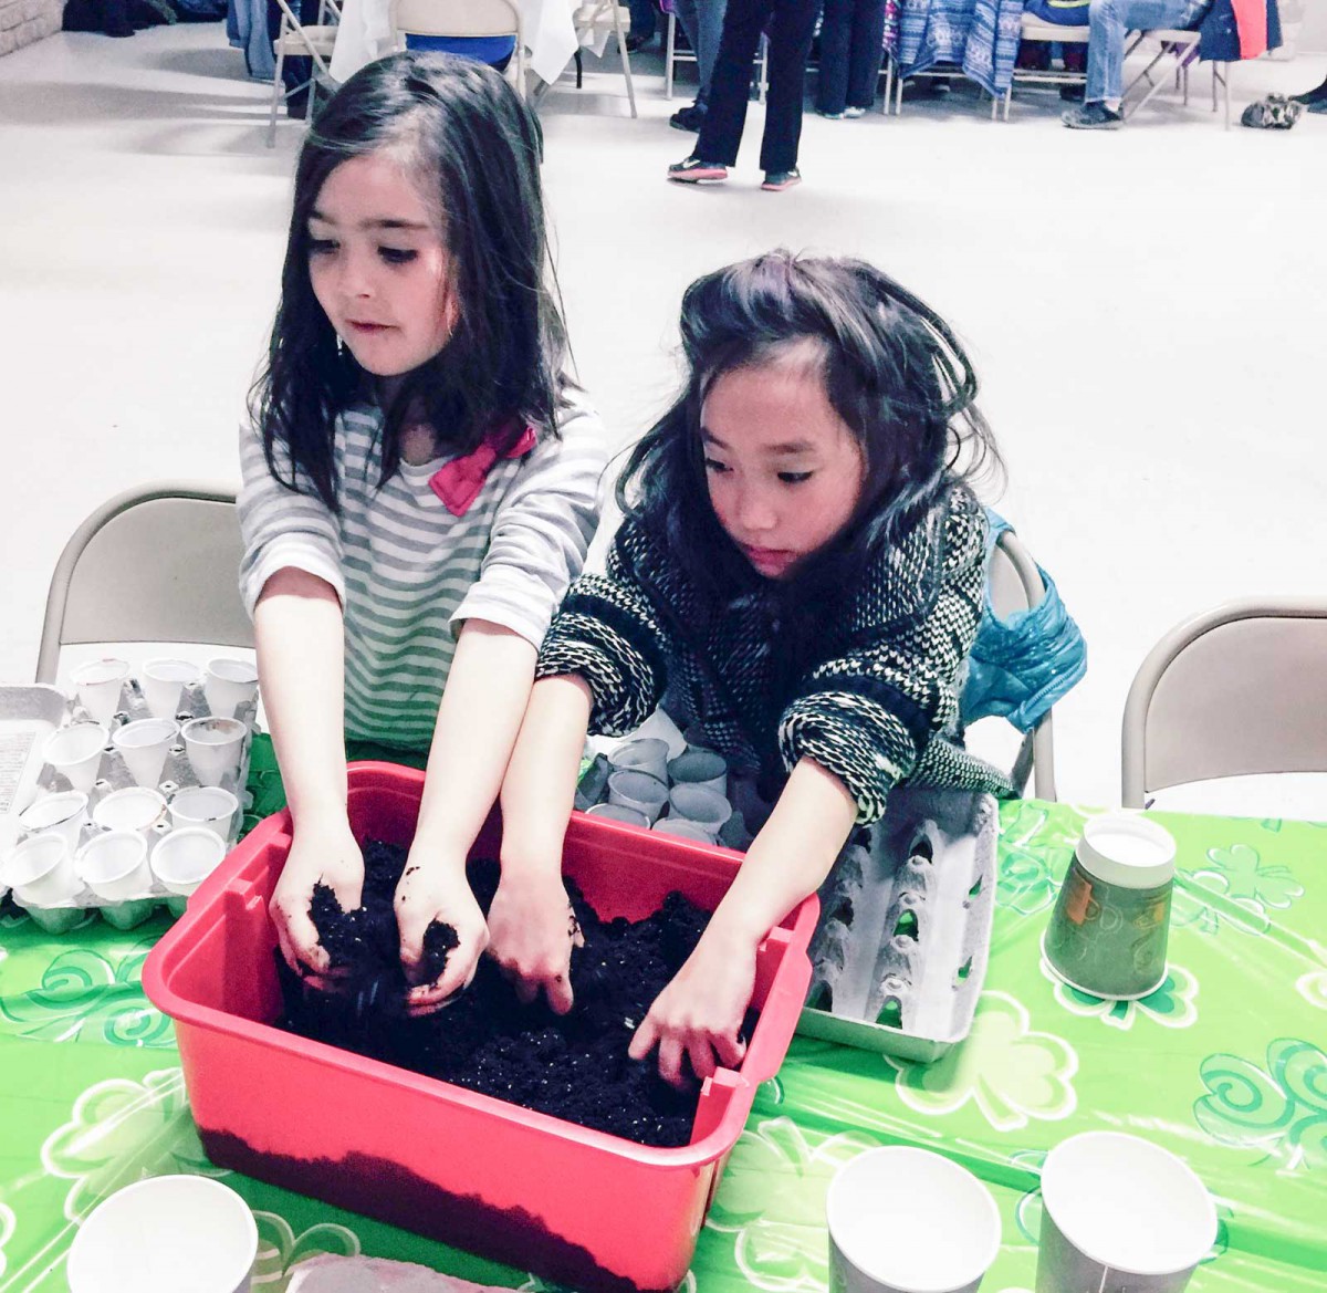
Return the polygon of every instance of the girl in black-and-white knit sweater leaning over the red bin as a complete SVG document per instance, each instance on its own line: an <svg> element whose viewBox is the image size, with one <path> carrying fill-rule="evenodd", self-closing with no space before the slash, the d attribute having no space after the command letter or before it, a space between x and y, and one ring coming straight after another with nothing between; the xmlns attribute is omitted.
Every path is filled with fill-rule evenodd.
<svg viewBox="0 0 1327 1293"><path fill-rule="evenodd" d="M963 479L995 457L953 332L868 264L778 251L694 283L682 345L606 573L572 587L540 652L488 916L523 997L571 1009L560 844L587 731L664 701L754 778L768 820L630 1043L674 1083L685 1061L740 1061L758 944L893 786L1007 789L947 738L985 577Z"/></svg>

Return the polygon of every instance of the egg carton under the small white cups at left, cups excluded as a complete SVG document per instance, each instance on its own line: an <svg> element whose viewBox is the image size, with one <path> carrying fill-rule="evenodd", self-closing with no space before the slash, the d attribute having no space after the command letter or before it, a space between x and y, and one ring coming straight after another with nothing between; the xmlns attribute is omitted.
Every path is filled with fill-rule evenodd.
<svg viewBox="0 0 1327 1293"><path fill-rule="evenodd" d="M249 750L256 714L257 701L253 700L242 705L234 716L244 723L245 735L240 746L238 771L226 774L220 781L220 789L234 794L239 804L231 816L230 831L223 840L227 852L235 846L243 828L244 811L251 804L251 797L244 786L248 781ZM107 828L93 820L101 802L115 791L138 785L125 763L123 754L111 743L110 738L125 723L150 717L153 716L141 688L134 678L130 678L121 693L121 708L107 725L107 743L101 753L96 781L86 791L89 820L78 835L77 847L80 850L92 839L106 834ZM210 717L212 713L203 692L203 684L199 681L184 685L175 721L183 726L194 718ZM92 721L92 716L76 698L65 696L57 688L41 684L0 685L0 820L5 823L5 834L0 836L0 858L8 856L17 844L35 834L23 830L17 820L17 811L13 811L16 806L27 808L45 797L74 789L62 773L42 761L41 750L46 739L62 726ZM176 791L199 785L198 775L184 751L183 738L176 737L166 754L158 785L147 789L157 790L169 802ZM147 836L149 867L155 846L170 832L171 818L167 808L162 818L143 831ZM64 933L82 924L92 913L100 913L115 928L131 929L150 919L163 905L173 915L182 915L186 901L182 895L169 891L155 872L151 874L150 884L117 903L105 901L85 881L69 899L52 905L24 903L16 893L11 893L4 883L0 883L0 900L7 896L16 907L27 911L33 923L48 933Z"/></svg>

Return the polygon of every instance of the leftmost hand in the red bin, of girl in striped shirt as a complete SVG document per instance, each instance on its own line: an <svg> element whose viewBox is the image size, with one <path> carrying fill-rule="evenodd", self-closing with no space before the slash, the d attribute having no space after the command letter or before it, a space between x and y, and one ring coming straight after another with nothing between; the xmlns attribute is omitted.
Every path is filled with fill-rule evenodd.
<svg viewBox="0 0 1327 1293"><path fill-rule="evenodd" d="M285 964L312 988L332 992L342 972L332 965L309 916L316 884L332 889L342 911L360 905L364 854L344 815L325 812L296 828L291 854L267 908Z"/></svg>

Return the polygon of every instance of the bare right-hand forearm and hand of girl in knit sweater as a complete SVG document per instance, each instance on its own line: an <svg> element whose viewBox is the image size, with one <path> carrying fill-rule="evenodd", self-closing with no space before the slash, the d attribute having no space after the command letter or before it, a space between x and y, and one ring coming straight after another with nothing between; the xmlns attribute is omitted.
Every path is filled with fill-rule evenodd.
<svg viewBox="0 0 1327 1293"><path fill-rule="evenodd" d="M636 1030L633 1059L658 1045L660 1075L674 1085L683 1057L698 1078L717 1063L740 1063L738 1030L755 988L756 948L820 887L856 816L857 802L833 773L812 759L798 763L695 951Z"/></svg>

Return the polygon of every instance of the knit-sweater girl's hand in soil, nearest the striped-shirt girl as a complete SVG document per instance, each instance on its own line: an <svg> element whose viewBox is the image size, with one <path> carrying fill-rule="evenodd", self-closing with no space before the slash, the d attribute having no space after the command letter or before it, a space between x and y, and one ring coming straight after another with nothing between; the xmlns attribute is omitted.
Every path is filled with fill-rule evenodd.
<svg viewBox="0 0 1327 1293"><path fill-rule="evenodd" d="M560 875L514 879L503 871L488 908L488 954L515 985L522 1005L544 992L555 1014L571 1010L572 948L585 940Z"/></svg>

